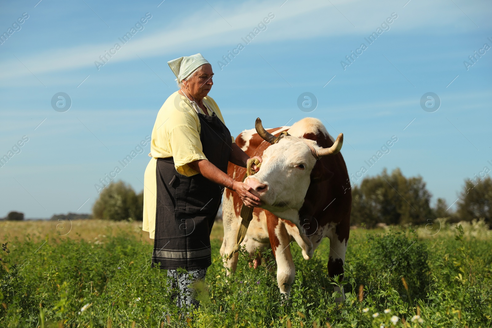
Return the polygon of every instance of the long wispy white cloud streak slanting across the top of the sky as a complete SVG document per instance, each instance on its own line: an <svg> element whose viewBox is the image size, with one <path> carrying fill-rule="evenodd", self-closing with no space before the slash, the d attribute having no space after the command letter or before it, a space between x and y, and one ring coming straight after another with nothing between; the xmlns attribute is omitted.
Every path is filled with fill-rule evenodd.
<svg viewBox="0 0 492 328"><path fill-rule="evenodd" d="M218 16L212 8L202 8L200 12L184 13L178 17L172 27L160 28L159 31L148 34L144 30L135 35L127 45L111 59L111 63L150 58L166 54L190 51L191 49L210 47L235 46L243 36L252 30L269 12L275 14L275 19L269 24L268 33L254 42L286 41L300 38L320 36L343 36L366 33L375 30L387 16L397 12L400 19L392 29L406 31L425 29L427 26L448 26L450 20L435 19L435 13L440 16L445 12L446 17L455 18L453 26L458 25L463 30L476 29L468 18L462 15L456 7L446 5L445 1L433 3L410 3L405 8L394 1L384 1L377 4L363 0L331 1L289 1L282 7L272 5L272 2L246 1L221 9ZM484 4L485 5L485 4ZM476 20L483 15L480 4L470 4L467 14ZM357 28L347 22L340 12ZM222 17L223 16L223 17ZM203 23L203 17L207 22ZM478 18L477 18L478 17ZM233 22L232 27L224 22ZM149 25L159 24L149 21ZM468 26L469 25L469 26ZM482 23L482 26L484 23ZM35 55L21 56L22 62L30 67L33 74L48 73L63 70L73 70L82 67L94 67L94 60L120 41L118 37L126 30L115 31L113 38L97 44L72 45L66 48L45 49ZM101 68L103 69L103 68ZM0 78L11 79L31 74L14 57L0 62Z"/></svg>

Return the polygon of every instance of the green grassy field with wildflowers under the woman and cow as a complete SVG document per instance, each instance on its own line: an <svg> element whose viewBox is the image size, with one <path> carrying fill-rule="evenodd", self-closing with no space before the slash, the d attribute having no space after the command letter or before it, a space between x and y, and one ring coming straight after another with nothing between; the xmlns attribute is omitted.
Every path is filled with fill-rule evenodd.
<svg viewBox="0 0 492 328"><path fill-rule="evenodd" d="M0 327L492 327L492 233L480 222L352 230L342 304L328 239L309 261L293 243L296 280L282 302L270 254L257 269L240 254L226 276L216 222L201 306L184 324L138 223L57 223L0 222Z"/></svg>

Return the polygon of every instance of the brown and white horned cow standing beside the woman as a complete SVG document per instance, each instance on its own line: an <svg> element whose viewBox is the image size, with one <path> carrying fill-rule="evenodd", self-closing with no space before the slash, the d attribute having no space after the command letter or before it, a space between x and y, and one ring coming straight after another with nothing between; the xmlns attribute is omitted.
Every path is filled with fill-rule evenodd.
<svg viewBox="0 0 492 328"><path fill-rule="evenodd" d="M286 131L287 133L283 132ZM281 136L281 137L279 137ZM246 238L241 245L253 258L256 250L272 248L277 263L277 283L288 299L296 269L290 252L295 240L309 260L322 239L330 239L328 275L343 278L343 264L350 232L352 196L345 161L339 150L343 143L330 136L319 119L305 118L292 126L264 129L260 119L255 129L243 131L236 144L250 157L262 156L261 168L245 179L262 202L253 210ZM241 181L246 169L229 163L228 175ZM226 189L222 205L224 239L220 255L229 255L236 243L243 202ZM261 256L261 255L260 255ZM228 273L237 267L238 253L227 260ZM261 258L254 258L254 267ZM344 299L343 288L338 302Z"/></svg>

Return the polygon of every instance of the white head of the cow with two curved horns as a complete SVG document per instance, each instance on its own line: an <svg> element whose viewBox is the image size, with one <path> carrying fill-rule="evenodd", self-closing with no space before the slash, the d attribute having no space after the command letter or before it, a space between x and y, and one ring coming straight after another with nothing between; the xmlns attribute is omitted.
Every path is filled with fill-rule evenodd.
<svg viewBox="0 0 492 328"><path fill-rule="evenodd" d="M261 199L262 208L298 223L299 210L316 161L323 156L337 154L343 143L343 134L338 135L332 147L321 148L313 140L289 134L277 138L263 128L259 118L255 128L258 135L272 145L263 152L258 173L247 177L245 183Z"/></svg>

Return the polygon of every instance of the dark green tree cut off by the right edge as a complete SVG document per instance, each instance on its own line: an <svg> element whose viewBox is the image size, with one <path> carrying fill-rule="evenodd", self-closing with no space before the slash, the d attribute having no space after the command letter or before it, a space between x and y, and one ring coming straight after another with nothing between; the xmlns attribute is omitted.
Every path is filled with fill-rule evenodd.
<svg viewBox="0 0 492 328"><path fill-rule="evenodd" d="M465 180L457 203L457 215L463 221L484 218L490 225L492 224L492 179L477 178L475 182L471 179Z"/></svg>

